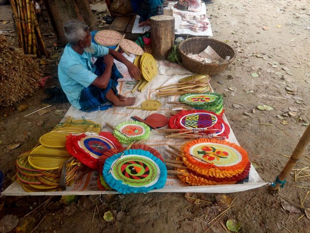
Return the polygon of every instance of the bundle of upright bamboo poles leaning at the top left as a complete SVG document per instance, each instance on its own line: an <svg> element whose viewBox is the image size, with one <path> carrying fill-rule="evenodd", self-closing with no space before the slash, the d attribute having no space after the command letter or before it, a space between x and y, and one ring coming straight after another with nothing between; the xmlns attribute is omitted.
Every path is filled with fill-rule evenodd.
<svg viewBox="0 0 310 233"><path fill-rule="evenodd" d="M32 0L11 0L19 46L25 54L48 56Z"/></svg>

